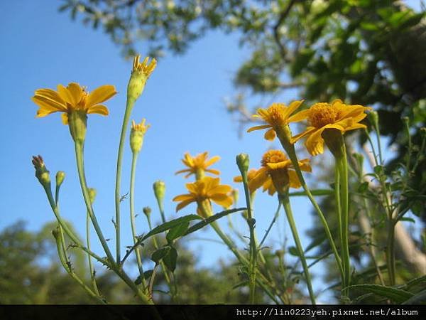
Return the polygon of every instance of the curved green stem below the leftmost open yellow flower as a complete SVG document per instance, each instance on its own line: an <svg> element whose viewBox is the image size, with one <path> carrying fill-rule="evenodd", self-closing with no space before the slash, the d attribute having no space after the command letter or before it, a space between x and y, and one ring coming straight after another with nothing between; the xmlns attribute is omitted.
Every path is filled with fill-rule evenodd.
<svg viewBox="0 0 426 320"><path fill-rule="evenodd" d="M107 241L102 234L102 230L99 227L99 223L97 222L97 218L94 215L94 211L92 208L92 203L90 202L89 189L87 188L86 176L84 174L84 160L83 160L83 143L75 142L75 157L77 159L77 171L78 177L80 178L80 186L82 188L84 203L86 203L86 208L89 213L90 219L92 220L94 230L97 233L97 236L101 242L102 247L104 248L105 253L107 254L108 260L111 262L111 265L116 265L114 261L114 257L111 255L111 251L107 245Z"/></svg>

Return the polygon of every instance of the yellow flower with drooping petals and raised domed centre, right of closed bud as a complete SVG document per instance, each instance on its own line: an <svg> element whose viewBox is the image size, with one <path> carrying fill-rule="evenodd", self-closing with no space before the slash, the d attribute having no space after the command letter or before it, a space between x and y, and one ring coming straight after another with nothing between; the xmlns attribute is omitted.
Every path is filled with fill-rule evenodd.
<svg viewBox="0 0 426 320"><path fill-rule="evenodd" d="M291 160L285 156L283 151L269 150L263 154L262 167L256 171L256 174L249 181L250 192L263 186L263 191L268 190L272 196L277 190L282 192L288 187L300 188L299 178L293 169ZM311 172L309 159L299 161L302 171Z"/></svg>

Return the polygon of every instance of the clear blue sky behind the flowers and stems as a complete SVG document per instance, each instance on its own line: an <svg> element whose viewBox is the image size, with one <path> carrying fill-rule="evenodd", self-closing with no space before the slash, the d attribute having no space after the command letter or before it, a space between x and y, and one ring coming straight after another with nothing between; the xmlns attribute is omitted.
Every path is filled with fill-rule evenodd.
<svg viewBox="0 0 426 320"><path fill-rule="evenodd" d="M418 1L409 1L418 5ZM93 90L99 85L115 85L119 94L107 102L109 117L89 117L85 164L89 186L97 188L94 206L106 238L114 239L114 179L116 149L119 142L122 116L126 99L126 85L131 62L119 55L102 31L85 28L80 22L72 22L68 14L58 13L59 2L54 1L1 1L3 18L0 28L2 46L0 70L0 229L25 220L30 230L39 230L53 220L43 189L34 177L31 156L41 154L52 176L58 170L67 176L62 185L60 206L62 215L72 221L82 235L85 225L85 207L80 193L75 166L72 139L68 128L60 122L59 114L36 119L37 106L31 102L35 89L55 88L58 84L79 82ZM146 48L139 47L141 54ZM195 213L195 206L175 213L171 199L185 193L185 179L175 176L182 169L180 159L185 151L198 154L209 151L222 160L214 165L222 171L222 183L232 183L238 174L235 156L246 152L251 156L251 166L258 167L261 155L270 146L263 140L263 133L253 132L238 137L236 123L227 114L223 98L234 95L232 77L242 60L249 57L239 48L238 38L222 33L209 33L193 43L187 54L167 55L158 63L148 80L143 96L136 103L132 119L139 122L143 117L151 124L143 150L139 157L136 176L136 210L143 206L153 208L155 224L160 221L152 192L154 181L166 183L165 210L169 218ZM288 103L299 98L295 92L277 97L277 102ZM253 100L258 102L257 100ZM124 156L122 193L129 191L130 148L126 143ZM244 199L241 197L243 206ZM275 212L276 201L265 194L256 196L255 214L258 237ZM311 207L303 198L293 201L293 211L300 233L312 223ZM129 201L121 206L122 244L131 243L129 228ZM282 215L283 217L283 215ZM241 230L246 225L237 217L235 223ZM222 225L226 226L226 220ZM138 233L146 232L143 215L137 218ZM277 230L280 229L280 233ZM246 230L247 231L247 230ZM202 238L217 239L209 230L202 231ZM290 230L280 218L275 225L269 245L279 247L279 238L289 238ZM302 236L304 245L308 239ZM95 241L94 250L101 252ZM114 249L111 240L111 249ZM200 264L214 265L217 259L231 257L222 245L214 242L191 240L190 247L200 254ZM124 250L123 250L124 251ZM320 270L317 270L320 272ZM320 289L320 288L316 288Z"/></svg>

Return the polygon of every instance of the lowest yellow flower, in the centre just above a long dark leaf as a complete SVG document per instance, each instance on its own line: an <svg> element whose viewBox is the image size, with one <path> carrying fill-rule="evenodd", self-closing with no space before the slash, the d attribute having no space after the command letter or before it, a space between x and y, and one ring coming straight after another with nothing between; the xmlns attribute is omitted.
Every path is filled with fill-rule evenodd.
<svg viewBox="0 0 426 320"><path fill-rule="evenodd" d="M211 208L212 202L217 203L219 206L228 208L232 205L233 198L230 195L232 188L224 184L219 184L219 178L212 178L205 176L204 178L195 181L194 183L187 183L186 187L190 193L175 196L173 201L180 201L176 206L176 211L185 208L192 202L196 202L198 209L197 213L204 218L203 210L201 208ZM206 210L210 211L210 210Z"/></svg>

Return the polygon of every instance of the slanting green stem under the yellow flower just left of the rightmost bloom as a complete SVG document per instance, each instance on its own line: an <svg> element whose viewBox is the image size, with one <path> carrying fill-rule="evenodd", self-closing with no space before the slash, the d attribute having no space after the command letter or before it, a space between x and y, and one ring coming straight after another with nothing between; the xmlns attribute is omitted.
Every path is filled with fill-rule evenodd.
<svg viewBox="0 0 426 320"><path fill-rule="evenodd" d="M317 201L315 201L315 198L312 196L310 189L307 187L305 178L303 177L302 171L300 170L299 161L297 160L295 146L293 144L285 142L285 139L282 139L280 135L278 135L278 137L280 138L280 142L283 145L283 148L285 149L285 151L287 151L287 154L293 164L293 168L296 171L297 177L299 178L299 181L302 184L302 188L306 192L307 198L309 198L310 202L312 203L312 206L314 206L315 210L318 213L318 216L320 217L321 223L324 227L325 234L327 235L327 239L329 240L329 245L332 248L334 258L337 263L337 267L339 268L340 274L343 277L344 272L342 267L342 260L340 259L339 253L337 252L337 248L336 248L336 245L334 244L333 236L332 236L332 233L330 232L327 220L324 217L324 214L322 213L320 206L318 206Z"/></svg>

